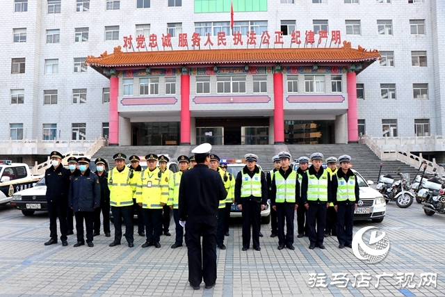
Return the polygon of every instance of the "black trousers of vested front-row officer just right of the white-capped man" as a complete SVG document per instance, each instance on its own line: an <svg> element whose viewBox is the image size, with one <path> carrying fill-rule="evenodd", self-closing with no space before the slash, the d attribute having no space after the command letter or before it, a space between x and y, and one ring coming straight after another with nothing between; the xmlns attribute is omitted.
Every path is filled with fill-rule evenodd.
<svg viewBox="0 0 445 297"><path fill-rule="evenodd" d="M252 222L252 242L254 248L259 248L259 226L261 225L261 204L243 199L243 248L250 247L250 222Z"/></svg>

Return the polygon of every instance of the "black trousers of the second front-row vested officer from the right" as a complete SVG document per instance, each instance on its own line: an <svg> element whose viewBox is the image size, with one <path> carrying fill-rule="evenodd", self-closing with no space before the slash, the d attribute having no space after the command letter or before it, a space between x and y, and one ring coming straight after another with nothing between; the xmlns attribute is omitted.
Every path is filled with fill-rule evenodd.
<svg viewBox="0 0 445 297"><path fill-rule="evenodd" d="M325 227L326 227L326 202L320 204L309 203L309 209L307 209L307 235L309 241L316 246L323 244L325 239Z"/></svg>

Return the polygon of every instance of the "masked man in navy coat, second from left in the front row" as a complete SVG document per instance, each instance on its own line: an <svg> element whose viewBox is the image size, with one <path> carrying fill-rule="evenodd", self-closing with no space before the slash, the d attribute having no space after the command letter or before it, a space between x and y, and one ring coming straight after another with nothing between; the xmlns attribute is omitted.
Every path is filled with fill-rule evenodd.
<svg viewBox="0 0 445 297"><path fill-rule="evenodd" d="M70 184L68 203L76 217L77 243L74 247L85 245L83 239L83 220L86 225L86 242L92 248L92 229L95 219L95 208L100 204L100 186L97 175L90 171L90 159L79 158L79 170L74 172Z"/></svg>

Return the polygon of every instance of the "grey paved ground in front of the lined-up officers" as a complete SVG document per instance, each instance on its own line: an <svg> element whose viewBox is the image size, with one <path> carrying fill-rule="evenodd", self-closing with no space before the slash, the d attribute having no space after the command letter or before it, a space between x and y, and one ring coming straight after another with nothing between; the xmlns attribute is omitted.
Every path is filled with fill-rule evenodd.
<svg viewBox="0 0 445 297"><path fill-rule="evenodd" d="M369 225L387 232L391 250L378 264L362 262L349 248L339 250L332 237L325 241L325 250L309 250L307 237L296 238L296 250L277 250L277 238L269 237L266 225L261 252L243 252L238 223L226 237L227 250L218 250L216 287L193 291L187 281L186 247L170 248L173 236L162 236L159 249L140 248L145 241L140 236L134 248L110 248L112 239L104 234L95 237L93 248L74 248L75 235L69 236L67 247L60 241L44 246L49 239L47 214L25 217L2 206L0 296L445 296L445 216L428 217L416 202L408 209L389 204L380 224L355 223L355 232ZM325 273L326 287L314 285L309 273ZM347 287L340 287L344 282L332 284L332 273L347 273ZM358 282L360 276L354 284L357 273L369 273L369 285ZM381 278L375 288L376 275L383 273L393 276ZM410 287L405 274L398 282L397 273L414 273ZM419 287L421 273L437 273L437 287Z"/></svg>

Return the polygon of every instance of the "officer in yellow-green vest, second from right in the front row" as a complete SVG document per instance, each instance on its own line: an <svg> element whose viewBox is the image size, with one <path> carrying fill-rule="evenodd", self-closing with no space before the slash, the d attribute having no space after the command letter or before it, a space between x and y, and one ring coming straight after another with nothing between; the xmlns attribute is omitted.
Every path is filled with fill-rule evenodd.
<svg viewBox="0 0 445 297"><path fill-rule="evenodd" d="M307 170L301 185L301 199L307 209L307 233L309 249L324 249L326 211L331 201L330 175L323 169L323 154L314 152L311 155L312 166Z"/></svg>

